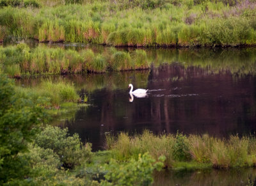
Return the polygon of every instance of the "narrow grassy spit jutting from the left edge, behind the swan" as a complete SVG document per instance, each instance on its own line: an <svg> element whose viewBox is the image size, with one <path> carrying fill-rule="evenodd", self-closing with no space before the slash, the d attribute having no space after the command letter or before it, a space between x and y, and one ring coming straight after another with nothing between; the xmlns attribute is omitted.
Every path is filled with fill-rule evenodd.
<svg viewBox="0 0 256 186"><path fill-rule="evenodd" d="M1 66L11 77L22 74L76 74L85 72L140 70L149 68L144 50L122 52L106 49L102 53L91 49L64 50L38 46L30 49L25 43L0 47Z"/></svg>

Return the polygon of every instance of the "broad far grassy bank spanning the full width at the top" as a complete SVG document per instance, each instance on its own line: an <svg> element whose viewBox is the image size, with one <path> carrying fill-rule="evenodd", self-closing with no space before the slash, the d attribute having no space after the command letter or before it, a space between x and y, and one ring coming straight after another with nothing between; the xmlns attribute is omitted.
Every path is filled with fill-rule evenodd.
<svg viewBox="0 0 256 186"><path fill-rule="evenodd" d="M256 44L250 0L1 2L0 42L15 36L134 47Z"/></svg>

